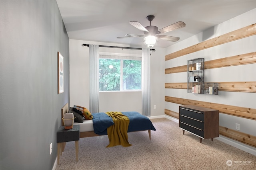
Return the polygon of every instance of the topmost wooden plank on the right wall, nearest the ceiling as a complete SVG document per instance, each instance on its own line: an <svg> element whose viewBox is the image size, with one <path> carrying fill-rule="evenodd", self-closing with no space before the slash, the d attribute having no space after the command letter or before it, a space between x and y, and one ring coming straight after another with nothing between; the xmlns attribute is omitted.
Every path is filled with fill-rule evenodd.
<svg viewBox="0 0 256 170"><path fill-rule="evenodd" d="M235 40L238 40L238 39L249 37L249 36L252 36L252 35L256 35L256 24L255 23L252 24L252 25L248 25L246 27L237 29L235 31L231 31L229 33L220 35L218 37L214 37L212 39L203 41L203 42L198 43L196 45L192 45L192 46L187 47L185 49L176 51L174 53L168 54L168 55L165 56L165 61L168 61L170 59L174 59L176 57L180 57L180 56L183 56L183 55L187 55L187 54L190 54L190 53L194 53L196 51L200 51L200 50L203 50L203 49L208 49L210 47L214 47L214 46L217 46L217 45L221 45L221 44L224 44L224 43L228 43L228 42L231 42L231 41L235 41Z"/></svg>

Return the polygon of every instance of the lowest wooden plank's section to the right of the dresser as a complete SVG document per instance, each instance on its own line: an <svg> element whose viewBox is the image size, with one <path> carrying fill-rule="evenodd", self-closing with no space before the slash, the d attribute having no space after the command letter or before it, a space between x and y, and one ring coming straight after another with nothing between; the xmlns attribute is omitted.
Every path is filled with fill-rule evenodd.
<svg viewBox="0 0 256 170"><path fill-rule="evenodd" d="M222 126L220 126L219 132L220 132L220 135L223 135L228 138L234 139L236 141L256 147L256 136L239 132L234 129L228 129L227 127L222 127Z"/></svg>

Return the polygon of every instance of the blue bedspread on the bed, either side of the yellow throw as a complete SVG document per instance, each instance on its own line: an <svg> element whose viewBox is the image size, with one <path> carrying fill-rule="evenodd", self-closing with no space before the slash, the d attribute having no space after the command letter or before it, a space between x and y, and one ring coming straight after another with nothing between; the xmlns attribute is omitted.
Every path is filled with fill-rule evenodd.
<svg viewBox="0 0 256 170"><path fill-rule="evenodd" d="M126 115L130 120L127 132L156 130L148 117L141 115L136 111L122 112L122 114ZM92 116L94 133L98 135L107 135L108 127L114 125L112 118L103 112L92 113Z"/></svg>

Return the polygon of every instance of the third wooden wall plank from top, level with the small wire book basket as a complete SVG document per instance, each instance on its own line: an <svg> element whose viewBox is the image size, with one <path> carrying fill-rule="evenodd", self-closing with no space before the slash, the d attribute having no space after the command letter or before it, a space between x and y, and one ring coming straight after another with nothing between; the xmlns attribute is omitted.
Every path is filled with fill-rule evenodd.
<svg viewBox="0 0 256 170"><path fill-rule="evenodd" d="M218 82L219 91L256 93L256 82ZM165 88L187 89L187 82L165 83Z"/></svg>

